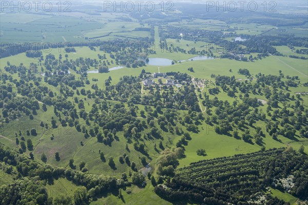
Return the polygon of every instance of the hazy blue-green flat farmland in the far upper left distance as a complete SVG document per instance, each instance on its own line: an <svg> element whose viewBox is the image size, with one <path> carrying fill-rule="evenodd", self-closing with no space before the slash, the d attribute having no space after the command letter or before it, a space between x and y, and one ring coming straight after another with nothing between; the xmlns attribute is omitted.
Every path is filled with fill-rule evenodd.
<svg viewBox="0 0 308 205"><path fill-rule="evenodd" d="M109 20L107 20L107 18ZM120 18L120 19L119 19ZM146 37L149 32L134 31L142 27L139 23L127 24L121 18L129 18L126 14L102 13L92 16L86 13L67 12L61 15L43 13L4 13L1 18L1 42L81 42L87 38L101 40L119 37ZM22 19L22 21L20 20ZM110 22L110 19L114 19ZM112 31L113 33L106 37ZM31 35L28 35L31 34Z"/></svg>

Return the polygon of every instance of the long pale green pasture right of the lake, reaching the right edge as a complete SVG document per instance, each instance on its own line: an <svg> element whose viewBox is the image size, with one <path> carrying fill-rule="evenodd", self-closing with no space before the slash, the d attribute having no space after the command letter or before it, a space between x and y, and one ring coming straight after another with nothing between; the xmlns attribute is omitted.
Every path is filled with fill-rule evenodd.
<svg viewBox="0 0 308 205"><path fill-rule="evenodd" d="M168 58L167 54L165 57ZM290 66L293 68L290 68ZM172 66L164 66L160 67L160 72L180 71L195 75L198 78L209 79L211 74L235 75L236 78L243 78L243 75L237 73L240 68L248 69L253 76L258 73L265 75L279 75L279 70L281 70L284 76L297 75L302 81L306 81L306 66L307 61L305 60L281 56L268 56L262 60L256 60L254 62L218 58L187 61ZM193 67L195 72L187 71L187 68L189 67ZM233 72L229 73L229 69L232 69Z"/></svg>

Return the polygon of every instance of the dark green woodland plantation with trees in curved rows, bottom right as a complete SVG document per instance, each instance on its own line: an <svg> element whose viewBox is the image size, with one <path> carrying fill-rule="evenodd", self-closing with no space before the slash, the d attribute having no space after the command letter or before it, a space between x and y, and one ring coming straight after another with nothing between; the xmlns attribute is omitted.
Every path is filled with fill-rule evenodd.
<svg viewBox="0 0 308 205"><path fill-rule="evenodd" d="M274 179L294 175L294 186L288 192L306 195L307 159L292 149L273 149L198 161L177 169L175 177L167 178L155 192L172 201L198 204L288 204L267 194L267 187L288 190Z"/></svg>

